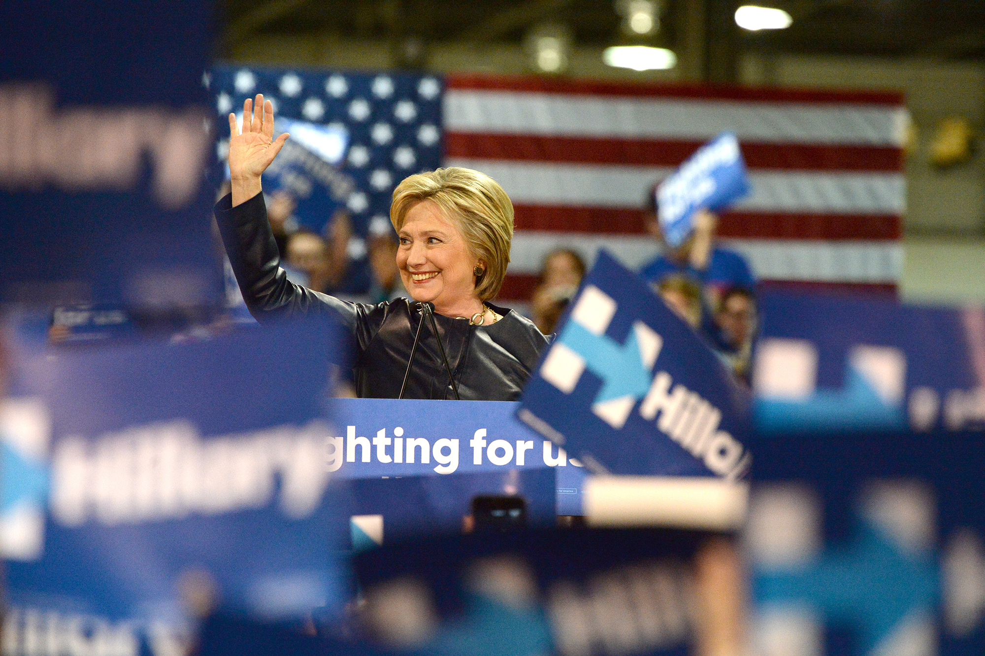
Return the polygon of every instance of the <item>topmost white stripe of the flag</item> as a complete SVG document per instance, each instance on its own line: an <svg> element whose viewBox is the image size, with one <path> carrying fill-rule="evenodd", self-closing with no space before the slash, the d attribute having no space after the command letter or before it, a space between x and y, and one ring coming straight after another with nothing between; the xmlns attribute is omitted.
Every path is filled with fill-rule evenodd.
<svg viewBox="0 0 985 656"><path fill-rule="evenodd" d="M448 90L449 132L707 140L726 130L764 143L900 146L908 113L891 105L592 97Z"/></svg>

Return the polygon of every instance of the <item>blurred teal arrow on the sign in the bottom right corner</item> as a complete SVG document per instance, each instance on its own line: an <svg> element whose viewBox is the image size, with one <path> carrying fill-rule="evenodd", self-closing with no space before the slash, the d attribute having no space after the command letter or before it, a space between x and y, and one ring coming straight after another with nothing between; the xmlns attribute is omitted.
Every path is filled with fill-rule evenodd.
<svg viewBox="0 0 985 656"><path fill-rule="evenodd" d="M912 612L933 615L939 580L931 555L908 557L864 524L857 537L814 562L756 571L754 596L759 605L809 606L828 620L858 626L865 654Z"/></svg>

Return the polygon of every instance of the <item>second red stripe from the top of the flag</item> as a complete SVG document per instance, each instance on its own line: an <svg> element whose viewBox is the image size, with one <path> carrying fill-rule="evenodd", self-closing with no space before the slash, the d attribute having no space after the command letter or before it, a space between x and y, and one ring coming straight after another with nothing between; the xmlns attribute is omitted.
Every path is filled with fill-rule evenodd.
<svg viewBox="0 0 985 656"><path fill-rule="evenodd" d="M702 142L591 139L519 134L448 132L445 157L518 162L677 166ZM750 168L898 172L898 148L807 144L742 144Z"/></svg>

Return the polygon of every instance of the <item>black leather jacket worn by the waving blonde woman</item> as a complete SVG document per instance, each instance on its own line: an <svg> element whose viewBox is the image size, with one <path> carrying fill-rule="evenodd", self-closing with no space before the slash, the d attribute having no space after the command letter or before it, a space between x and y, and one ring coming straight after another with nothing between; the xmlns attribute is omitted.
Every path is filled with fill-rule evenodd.
<svg viewBox="0 0 985 656"><path fill-rule="evenodd" d="M407 298L377 305L351 303L319 294L288 280L267 222L263 194L236 207L231 195L215 208L232 270L257 321L284 315L334 311L358 345L356 388L362 398L395 399L423 318ZM547 338L532 321L492 305L502 315L489 326L435 314L439 337L458 385L472 401L515 401L537 365ZM427 321L404 393L407 399L454 399L437 342Z"/></svg>

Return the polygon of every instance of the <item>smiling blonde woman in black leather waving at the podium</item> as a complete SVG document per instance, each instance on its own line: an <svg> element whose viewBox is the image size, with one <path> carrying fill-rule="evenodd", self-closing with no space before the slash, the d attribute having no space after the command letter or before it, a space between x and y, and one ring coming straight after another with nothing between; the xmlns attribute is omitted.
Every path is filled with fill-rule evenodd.
<svg viewBox="0 0 985 656"><path fill-rule="evenodd" d="M333 312L357 343L361 397L515 401L547 338L532 321L493 305L509 263L513 206L493 178L450 167L404 179L390 220L395 258L414 301L351 303L290 283L280 266L261 174L288 135L273 139L274 107L262 95L230 114L232 192L215 209L236 281L258 321ZM411 361L416 329L433 305L429 330ZM406 373L405 373L406 372Z"/></svg>

